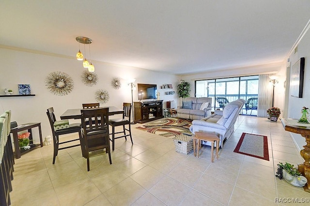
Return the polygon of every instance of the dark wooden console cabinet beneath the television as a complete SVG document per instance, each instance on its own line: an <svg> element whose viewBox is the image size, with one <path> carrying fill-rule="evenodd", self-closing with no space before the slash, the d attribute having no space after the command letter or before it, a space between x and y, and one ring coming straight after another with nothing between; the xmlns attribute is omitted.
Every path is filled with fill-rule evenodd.
<svg viewBox="0 0 310 206"><path fill-rule="evenodd" d="M163 100L152 102L134 102L135 122L144 123L164 118Z"/></svg>

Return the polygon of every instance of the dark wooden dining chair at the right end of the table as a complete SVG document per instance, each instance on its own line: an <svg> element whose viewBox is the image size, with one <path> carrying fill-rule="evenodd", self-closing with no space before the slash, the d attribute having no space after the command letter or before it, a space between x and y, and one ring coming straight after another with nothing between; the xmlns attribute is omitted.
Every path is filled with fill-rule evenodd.
<svg viewBox="0 0 310 206"><path fill-rule="evenodd" d="M112 150L114 150L114 140L118 138L125 137L125 140L127 141L127 136L130 136L131 144L134 144L132 141L132 136L131 136L131 128L130 128L130 116L131 116L131 103L123 103L123 109L124 109L124 114L123 118L115 118L115 119L109 119L109 125L112 126ZM127 128L125 127L127 125ZM123 126L123 131L122 132L115 132L115 127L117 126ZM129 134L126 134L126 131L129 132ZM124 133L122 136L117 136L115 137L115 134L118 133Z"/></svg>

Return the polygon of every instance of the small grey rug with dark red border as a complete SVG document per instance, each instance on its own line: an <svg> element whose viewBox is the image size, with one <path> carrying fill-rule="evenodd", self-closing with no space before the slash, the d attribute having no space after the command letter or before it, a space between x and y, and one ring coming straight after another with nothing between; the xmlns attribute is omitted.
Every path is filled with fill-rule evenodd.
<svg viewBox="0 0 310 206"><path fill-rule="evenodd" d="M233 151L269 161L267 136L242 133Z"/></svg>

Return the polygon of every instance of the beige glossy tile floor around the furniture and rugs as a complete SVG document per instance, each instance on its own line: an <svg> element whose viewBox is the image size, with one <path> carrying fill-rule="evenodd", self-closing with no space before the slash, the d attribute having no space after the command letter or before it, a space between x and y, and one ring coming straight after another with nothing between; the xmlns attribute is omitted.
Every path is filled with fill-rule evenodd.
<svg viewBox="0 0 310 206"><path fill-rule="evenodd" d="M242 132L268 137L270 161L233 152ZM12 206L293 206L303 204L275 198L310 198L275 177L278 162L303 162L279 120L240 116L213 163L210 147L204 146L198 159L192 152L175 152L171 138L138 129L132 133L134 145L116 140L111 165L105 152L93 152L90 172L79 147L61 150L54 165L52 145L23 155L14 166Z"/></svg>

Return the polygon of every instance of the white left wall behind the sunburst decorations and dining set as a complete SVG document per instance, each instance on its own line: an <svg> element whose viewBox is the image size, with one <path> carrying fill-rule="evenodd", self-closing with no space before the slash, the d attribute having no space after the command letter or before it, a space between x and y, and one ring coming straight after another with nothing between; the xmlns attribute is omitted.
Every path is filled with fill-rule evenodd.
<svg viewBox="0 0 310 206"><path fill-rule="evenodd" d="M75 52L75 51L73 51ZM58 55L40 54L16 49L0 47L0 95L4 94L4 88L13 89L18 94L17 84L30 84L31 97L0 97L0 113L12 110L11 121L18 124L27 122L41 122L43 139L51 135L51 129L47 119L47 108L54 107L56 118L59 118L66 109L81 108L82 103L96 102L94 93L104 88L109 91L109 102L101 106L123 107L123 102L131 103L131 89L126 80L135 78L137 83L157 84L160 99L164 101L178 101L175 95L165 95L167 89L160 89L163 84L172 84L177 91L179 77L171 74L157 73L150 70L132 68L106 62L93 61L95 72L98 74L98 83L94 87L86 86L81 81L84 70L82 62L71 57ZM45 86L45 78L51 72L61 71L69 74L74 81L74 89L65 96L52 94ZM111 80L114 77L121 79L122 87L114 89ZM170 89L171 90L171 89ZM169 91L170 91L169 90ZM133 93L134 101L138 101L137 90ZM77 120L70 120L76 122ZM39 141L36 129L33 130L34 142Z"/></svg>

